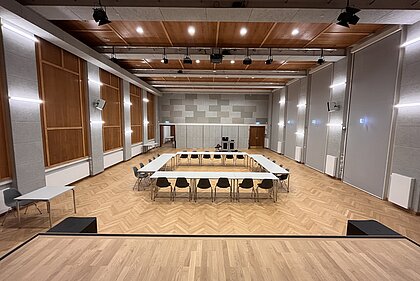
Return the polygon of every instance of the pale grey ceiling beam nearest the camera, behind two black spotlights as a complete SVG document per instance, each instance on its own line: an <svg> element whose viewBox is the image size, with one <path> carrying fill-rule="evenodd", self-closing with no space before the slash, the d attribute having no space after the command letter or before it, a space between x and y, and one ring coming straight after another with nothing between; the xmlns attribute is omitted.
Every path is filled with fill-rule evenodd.
<svg viewBox="0 0 420 281"><path fill-rule="evenodd" d="M91 20L88 6L28 6L49 20ZM340 9L107 7L110 20L331 23ZM360 23L414 24L420 10L362 10Z"/></svg>

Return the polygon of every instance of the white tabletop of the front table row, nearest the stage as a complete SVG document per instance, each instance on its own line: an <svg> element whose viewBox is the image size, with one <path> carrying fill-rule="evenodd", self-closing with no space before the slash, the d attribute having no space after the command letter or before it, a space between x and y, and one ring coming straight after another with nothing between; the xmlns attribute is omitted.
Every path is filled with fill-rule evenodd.
<svg viewBox="0 0 420 281"><path fill-rule="evenodd" d="M271 173L257 173L257 172L191 172L191 171L159 171L154 173L151 178L156 179L165 177L168 179L187 178L187 179L245 179L252 178L256 180L272 179L277 180L277 177Z"/></svg>

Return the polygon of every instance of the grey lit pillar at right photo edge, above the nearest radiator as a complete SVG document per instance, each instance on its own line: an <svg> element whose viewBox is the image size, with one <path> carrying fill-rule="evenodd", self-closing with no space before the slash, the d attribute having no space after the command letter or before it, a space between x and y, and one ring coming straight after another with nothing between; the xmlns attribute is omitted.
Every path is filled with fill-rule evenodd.
<svg viewBox="0 0 420 281"><path fill-rule="evenodd" d="M420 22L409 26L407 41L420 37ZM405 48L399 103L420 102L420 43ZM416 179L411 208L420 212L420 106L399 108L392 173Z"/></svg>

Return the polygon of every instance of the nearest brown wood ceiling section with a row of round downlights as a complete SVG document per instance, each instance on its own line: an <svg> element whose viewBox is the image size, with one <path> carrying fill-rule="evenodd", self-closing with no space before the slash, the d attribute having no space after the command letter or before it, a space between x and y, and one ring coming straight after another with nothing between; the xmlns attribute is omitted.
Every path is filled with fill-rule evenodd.
<svg viewBox="0 0 420 281"><path fill-rule="evenodd" d="M350 28L319 23L258 23L258 22L147 22L113 21L98 27L94 21L53 21L89 46L202 46L202 47L348 47L382 29L385 25L358 24ZM219 25L219 29L217 26ZM195 35L188 27L195 27ZM143 34L136 31L143 29ZM245 36L239 30L246 27ZM291 35L299 29L299 34ZM328 44L327 44L327 39Z"/></svg>

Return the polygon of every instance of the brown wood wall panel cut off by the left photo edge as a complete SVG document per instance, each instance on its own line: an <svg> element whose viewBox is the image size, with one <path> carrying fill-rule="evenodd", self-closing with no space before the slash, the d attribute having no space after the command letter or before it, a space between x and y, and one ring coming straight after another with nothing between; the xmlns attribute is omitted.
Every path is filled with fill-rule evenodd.
<svg viewBox="0 0 420 281"><path fill-rule="evenodd" d="M8 146L8 136L9 132L6 126L6 95L3 92L4 84L4 68L3 64L0 64L0 181L9 179L11 177L10 172L10 155L9 155L9 146Z"/></svg>

